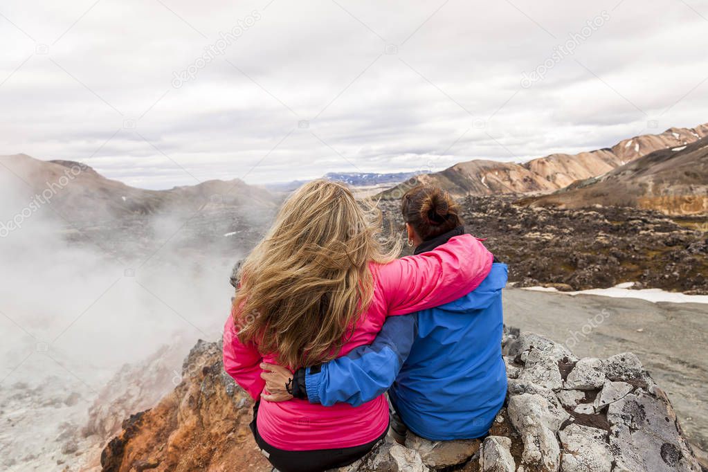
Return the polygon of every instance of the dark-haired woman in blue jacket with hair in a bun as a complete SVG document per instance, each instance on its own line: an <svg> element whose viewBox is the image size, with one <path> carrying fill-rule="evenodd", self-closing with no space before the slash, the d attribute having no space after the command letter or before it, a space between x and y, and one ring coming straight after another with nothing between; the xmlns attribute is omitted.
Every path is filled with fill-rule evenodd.
<svg viewBox="0 0 708 472"><path fill-rule="evenodd" d="M439 188L413 188L404 195L401 211L416 254L465 232L457 205ZM501 355L506 279L506 265L495 260L472 292L433 309L388 318L371 345L295 374L263 364L271 393L264 398L295 396L322 405L356 406L388 390L403 423L392 421L399 440L406 427L432 440L484 436L506 396ZM283 391L287 382L292 396Z"/></svg>

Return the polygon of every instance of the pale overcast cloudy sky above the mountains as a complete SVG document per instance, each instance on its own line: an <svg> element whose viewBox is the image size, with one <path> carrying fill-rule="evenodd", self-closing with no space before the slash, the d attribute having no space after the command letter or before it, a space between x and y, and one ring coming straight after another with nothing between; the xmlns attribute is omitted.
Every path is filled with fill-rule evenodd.
<svg viewBox="0 0 708 472"><path fill-rule="evenodd" d="M702 0L6 0L0 41L0 154L144 188L523 161L708 121Z"/></svg>

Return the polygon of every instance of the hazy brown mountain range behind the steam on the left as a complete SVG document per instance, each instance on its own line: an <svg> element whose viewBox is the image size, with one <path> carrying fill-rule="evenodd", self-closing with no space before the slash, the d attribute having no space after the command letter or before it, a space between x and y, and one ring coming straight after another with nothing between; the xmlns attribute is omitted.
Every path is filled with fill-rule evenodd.
<svg viewBox="0 0 708 472"><path fill-rule="evenodd" d="M0 156L1 168L9 171L4 177L17 185L21 199L50 201L53 208L72 221L195 212L204 205L275 208L280 202L268 190L239 179L146 190L105 178L90 166L74 161L40 161L26 154L14 154Z"/></svg>

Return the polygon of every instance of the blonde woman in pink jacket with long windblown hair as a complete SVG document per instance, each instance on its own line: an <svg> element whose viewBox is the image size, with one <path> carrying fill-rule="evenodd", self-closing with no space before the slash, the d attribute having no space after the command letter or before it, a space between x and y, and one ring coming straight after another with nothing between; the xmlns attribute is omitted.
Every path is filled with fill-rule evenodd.
<svg viewBox="0 0 708 472"><path fill-rule="evenodd" d="M256 443L282 472L346 466L382 439L384 396L356 407L307 400L258 402L261 362L316 365L372 343L387 316L433 308L469 293L493 255L468 234L433 251L396 260L379 242L381 214L346 185L315 180L282 206L244 261L224 327L224 369L256 405ZM287 388L290 388L288 386Z"/></svg>

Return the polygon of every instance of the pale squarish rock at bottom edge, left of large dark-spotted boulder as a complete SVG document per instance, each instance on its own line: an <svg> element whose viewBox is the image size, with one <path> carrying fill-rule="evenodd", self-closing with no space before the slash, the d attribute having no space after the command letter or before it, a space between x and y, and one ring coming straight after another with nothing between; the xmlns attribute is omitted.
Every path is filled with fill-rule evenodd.
<svg viewBox="0 0 708 472"><path fill-rule="evenodd" d="M561 472L612 471L607 432L594 427L569 425L558 435L563 445Z"/></svg>

